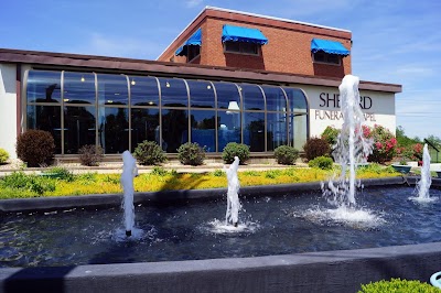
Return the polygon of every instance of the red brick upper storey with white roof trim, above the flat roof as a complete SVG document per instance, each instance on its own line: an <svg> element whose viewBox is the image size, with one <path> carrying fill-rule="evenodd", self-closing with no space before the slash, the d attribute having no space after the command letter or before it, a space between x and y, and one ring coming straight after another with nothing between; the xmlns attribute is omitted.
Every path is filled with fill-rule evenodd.
<svg viewBox="0 0 441 293"><path fill-rule="evenodd" d="M224 25L258 30L268 42L262 45L252 43L252 40L237 42L248 47L246 52L234 52L236 47L228 50L228 42L222 40ZM200 44L189 45L187 54L176 56L176 51L186 46L185 42L197 31ZM338 78L351 74L348 52L325 56L320 52L321 56L314 56L311 52L313 40L333 41L349 52L352 33L318 24L207 7L165 48L158 61ZM191 51L194 50L190 47L196 46L200 54L193 55ZM316 59L327 55L334 55L335 58L330 62Z"/></svg>

